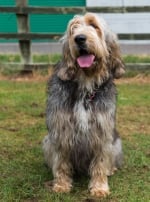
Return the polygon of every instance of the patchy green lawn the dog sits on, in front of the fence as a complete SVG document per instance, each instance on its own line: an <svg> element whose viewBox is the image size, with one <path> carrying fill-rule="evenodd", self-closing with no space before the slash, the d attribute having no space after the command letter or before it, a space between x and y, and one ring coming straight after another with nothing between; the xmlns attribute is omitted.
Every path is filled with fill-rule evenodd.
<svg viewBox="0 0 150 202"><path fill-rule="evenodd" d="M110 177L111 195L94 199L88 177L74 179L69 194L45 188L52 179L41 141L45 126L46 82L0 81L1 202L149 202L150 85L118 84L117 124L123 139L124 166Z"/></svg>

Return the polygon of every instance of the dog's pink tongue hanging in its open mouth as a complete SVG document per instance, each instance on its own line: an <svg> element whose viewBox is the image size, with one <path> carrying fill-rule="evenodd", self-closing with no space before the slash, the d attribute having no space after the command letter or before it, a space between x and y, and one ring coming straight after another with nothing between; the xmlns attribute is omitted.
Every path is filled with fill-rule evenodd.
<svg viewBox="0 0 150 202"><path fill-rule="evenodd" d="M81 68L88 68L93 64L95 56L94 55L82 55L77 58L78 65Z"/></svg>

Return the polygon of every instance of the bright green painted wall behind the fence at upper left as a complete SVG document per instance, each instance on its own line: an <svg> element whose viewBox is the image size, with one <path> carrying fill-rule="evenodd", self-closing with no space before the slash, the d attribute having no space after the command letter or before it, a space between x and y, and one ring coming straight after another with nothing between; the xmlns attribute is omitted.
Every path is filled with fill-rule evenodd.
<svg viewBox="0 0 150 202"><path fill-rule="evenodd" d="M86 0L28 0L30 6L85 6ZM0 6L15 6L15 0L0 0ZM64 32L71 14L31 14L31 32ZM13 13L0 13L0 32L17 32L16 16ZM11 40L12 42L13 40ZM6 42L6 40L0 40ZM7 40L8 42L8 40ZM10 40L9 40L10 42Z"/></svg>

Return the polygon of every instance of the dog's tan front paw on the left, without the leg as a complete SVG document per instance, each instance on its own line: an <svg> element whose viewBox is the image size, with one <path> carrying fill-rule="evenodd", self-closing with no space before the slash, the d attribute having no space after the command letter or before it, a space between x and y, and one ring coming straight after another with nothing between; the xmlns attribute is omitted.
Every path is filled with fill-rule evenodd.
<svg viewBox="0 0 150 202"><path fill-rule="evenodd" d="M72 185L69 183L55 183L52 187L52 190L57 193L67 193L70 192Z"/></svg>

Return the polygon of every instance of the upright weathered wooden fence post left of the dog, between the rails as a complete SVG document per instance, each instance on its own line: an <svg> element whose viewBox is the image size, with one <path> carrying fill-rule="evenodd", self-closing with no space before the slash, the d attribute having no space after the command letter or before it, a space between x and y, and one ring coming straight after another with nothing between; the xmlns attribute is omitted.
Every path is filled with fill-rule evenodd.
<svg viewBox="0 0 150 202"><path fill-rule="evenodd" d="M16 0L17 7L28 6L28 0ZM18 33L28 33L30 31L30 24L28 14L16 14ZM30 40L19 40L19 48L21 52L21 59L23 64L30 64L31 59L31 41Z"/></svg>

